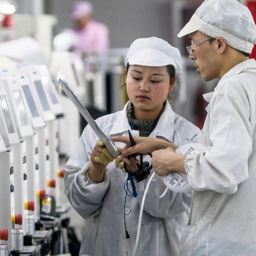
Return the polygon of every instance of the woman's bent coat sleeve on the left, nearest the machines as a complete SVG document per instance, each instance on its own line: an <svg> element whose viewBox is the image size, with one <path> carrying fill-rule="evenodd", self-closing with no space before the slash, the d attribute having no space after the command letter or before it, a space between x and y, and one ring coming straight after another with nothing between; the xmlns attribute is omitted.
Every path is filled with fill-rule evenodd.
<svg viewBox="0 0 256 256"><path fill-rule="evenodd" d="M87 125L81 135L78 149L64 167L65 194L83 218L98 213L109 186L108 171L105 172L101 183L92 182L86 175L91 166L90 158L96 141L97 136Z"/></svg>

